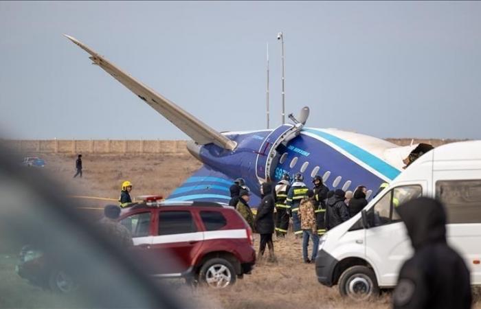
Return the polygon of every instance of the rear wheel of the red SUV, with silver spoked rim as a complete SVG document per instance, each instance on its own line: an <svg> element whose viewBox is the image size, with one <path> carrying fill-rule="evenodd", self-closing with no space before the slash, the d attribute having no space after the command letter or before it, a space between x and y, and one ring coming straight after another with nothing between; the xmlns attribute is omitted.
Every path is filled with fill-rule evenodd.
<svg viewBox="0 0 481 309"><path fill-rule="evenodd" d="M203 264L199 273L199 281L211 288L225 288L236 282L236 272L229 261L215 258Z"/></svg>

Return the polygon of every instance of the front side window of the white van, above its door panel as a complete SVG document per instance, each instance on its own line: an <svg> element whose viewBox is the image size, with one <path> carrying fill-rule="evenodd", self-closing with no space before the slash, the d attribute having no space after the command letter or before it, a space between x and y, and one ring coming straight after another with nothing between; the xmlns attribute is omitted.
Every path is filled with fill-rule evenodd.
<svg viewBox="0 0 481 309"><path fill-rule="evenodd" d="M395 187L377 201L376 205L368 211L368 220L372 227L379 227L392 222L399 222L401 218L396 212L396 207L414 198L421 197L423 189L420 185L404 185Z"/></svg>

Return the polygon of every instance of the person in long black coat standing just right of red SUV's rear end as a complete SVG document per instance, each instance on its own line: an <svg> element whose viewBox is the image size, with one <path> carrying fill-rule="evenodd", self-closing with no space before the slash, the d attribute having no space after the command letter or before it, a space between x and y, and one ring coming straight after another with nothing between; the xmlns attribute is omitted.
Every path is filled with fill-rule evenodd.
<svg viewBox="0 0 481 309"><path fill-rule="evenodd" d="M265 246L269 247L269 262L274 262L276 256L274 255L274 245L272 242L272 234L274 233L274 207L276 207L276 200L273 196L272 184L262 183L260 187L262 200L257 207L256 214L256 232L260 233L260 244L258 257L264 255Z"/></svg>

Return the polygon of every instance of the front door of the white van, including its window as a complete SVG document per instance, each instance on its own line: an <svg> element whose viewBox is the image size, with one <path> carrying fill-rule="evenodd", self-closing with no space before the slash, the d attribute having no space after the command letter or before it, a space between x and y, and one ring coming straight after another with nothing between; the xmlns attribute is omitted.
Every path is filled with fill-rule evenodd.
<svg viewBox="0 0 481 309"><path fill-rule="evenodd" d="M367 211L370 228L366 229L366 257L372 262L379 286L395 286L402 263L412 255L411 242L396 207L420 197L425 187L426 183L394 187L383 192Z"/></svg>

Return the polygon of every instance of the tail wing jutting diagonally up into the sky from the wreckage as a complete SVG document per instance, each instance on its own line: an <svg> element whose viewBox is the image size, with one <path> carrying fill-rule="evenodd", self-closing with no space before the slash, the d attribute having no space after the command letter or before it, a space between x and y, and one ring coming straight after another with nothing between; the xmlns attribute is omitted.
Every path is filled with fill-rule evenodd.
<svg viewBox="0 0 481 309"><path fill-rule="evenodd" d="M65 34L65 36L67 36L67 34ZM197 119L187 111L184 111L175 103L164 98L153 89L150 89L142 84L142 82L139 82L132 76L128 75L128 73L113 65L112 62L94 52L93 49L80 43L76 38L71 36L67 36L67 38L80 48L84 49L85 52L89 53L91 55L89 58L93 61L94 65L98 65L104 69L104 71L107 71L107 73L113 76L113 78L130 89L140 99L144 100L148 105L154 108L155 111L166 117L172 122L172 124L181 129L183 133L186 133L186 135L196 141L197 144L205 145L214 143L227 150L234 150L236 148L235 141L221 135L221 133L217 132L207 124L204 124L201 120Z"/></svg>

